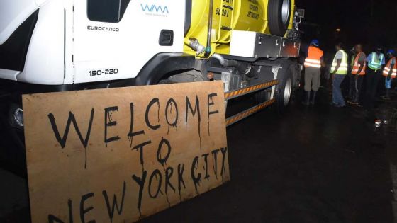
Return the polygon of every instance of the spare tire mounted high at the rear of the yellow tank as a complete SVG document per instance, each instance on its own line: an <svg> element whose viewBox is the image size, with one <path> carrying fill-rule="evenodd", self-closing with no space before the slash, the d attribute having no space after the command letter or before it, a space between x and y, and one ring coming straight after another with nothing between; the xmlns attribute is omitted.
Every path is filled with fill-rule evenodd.
<svg viewBox="0 0 397 223"><path fill-rule="evenodd" d="M285 35L291 18L291 8L291 0L269 0L267 21L272 35Z"/></svg>

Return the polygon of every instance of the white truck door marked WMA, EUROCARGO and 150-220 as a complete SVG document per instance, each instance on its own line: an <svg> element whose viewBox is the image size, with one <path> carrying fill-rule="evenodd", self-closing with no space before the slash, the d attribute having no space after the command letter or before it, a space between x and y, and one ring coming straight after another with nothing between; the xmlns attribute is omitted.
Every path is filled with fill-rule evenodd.
<svg viewBox="0 0 397 223"><path fill-rule="evenodd" d="M162 30L174 31L160 45ZM134 78L160 52L181 52L184 0L75 0L74 83Z"/></svg>

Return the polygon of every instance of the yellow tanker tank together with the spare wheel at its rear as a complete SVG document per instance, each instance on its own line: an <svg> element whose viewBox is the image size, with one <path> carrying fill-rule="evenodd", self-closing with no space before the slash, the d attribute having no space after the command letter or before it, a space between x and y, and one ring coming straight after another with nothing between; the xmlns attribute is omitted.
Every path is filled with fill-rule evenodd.
<svg viewBox="0 0 397 223"><path fill-rule="evenodd" d="M184 52L190 55L196 55L189 47L190 40L206 45L210 3L211 0L192 1L191 26L184 45ZM213 0L211 54L229 53L231 30L284 36L286 29L292 28L293 9L294 0Z"/></svg>

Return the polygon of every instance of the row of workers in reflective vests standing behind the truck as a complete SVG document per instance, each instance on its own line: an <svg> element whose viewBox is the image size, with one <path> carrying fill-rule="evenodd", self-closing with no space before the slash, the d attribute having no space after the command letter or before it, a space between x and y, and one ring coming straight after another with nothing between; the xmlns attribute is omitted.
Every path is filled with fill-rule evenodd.
<svg viewBox="0 0 397 223"><path fill-rule="evenodd" d="M340 88L342 81L350 71L350 89L347 103L364 106L367 110L374 108L374 101L382 75L385 76L385 91L383 97L390 99L391 81L397 76L397 58L394 50L388 50L386 56L382 48L376 48L368 56L362 50L362 45L355 45L351 62L342 43L336 46L336 55L330 67L332 75L332 102L331 105L342 108L346 106L345 98ZM324 52L320 50L318 40L311 41L308 56L305 59L305 96L303 105L314 105L315 96L320 88L321 67L325 67ZM387 58L386 58L387 57ZM386 63L386 59L388 62ZM364 78L365 77L365 78ZM365 80L365 92L362 92Z"/></svg>

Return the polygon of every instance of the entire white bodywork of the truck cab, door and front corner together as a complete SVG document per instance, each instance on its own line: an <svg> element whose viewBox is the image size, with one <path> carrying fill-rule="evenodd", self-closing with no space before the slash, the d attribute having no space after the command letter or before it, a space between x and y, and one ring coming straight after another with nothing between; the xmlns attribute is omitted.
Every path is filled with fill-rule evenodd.
<svg viewBox="0 0 397 223"><path fill-rule="evenodd" d="M11 8L0 14L4 41L39 8L23 71L0 67L3 79L46 85L131 79L158 53L183 52L184 0L130 1L118 23L90 21L87 0L1 0L0 8ZM161 30L174 31L172 46L159 45ZM106 69L117 74L90 75Z"/></svg>

